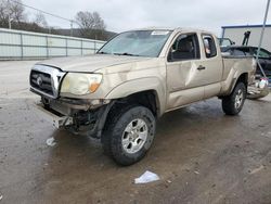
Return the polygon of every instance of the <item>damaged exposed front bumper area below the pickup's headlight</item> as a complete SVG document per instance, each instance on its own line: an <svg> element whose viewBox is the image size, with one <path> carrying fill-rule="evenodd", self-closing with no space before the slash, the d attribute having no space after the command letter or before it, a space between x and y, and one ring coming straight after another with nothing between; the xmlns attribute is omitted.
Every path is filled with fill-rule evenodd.
<svg viewBox="0 0 271 204"><path fill-rule="evenodd" d="M74 100L48 99L42 97L36 110L56 128L65 128L74 133L87 133L101 138L107 114L114 101L109 100Z"/></svg>

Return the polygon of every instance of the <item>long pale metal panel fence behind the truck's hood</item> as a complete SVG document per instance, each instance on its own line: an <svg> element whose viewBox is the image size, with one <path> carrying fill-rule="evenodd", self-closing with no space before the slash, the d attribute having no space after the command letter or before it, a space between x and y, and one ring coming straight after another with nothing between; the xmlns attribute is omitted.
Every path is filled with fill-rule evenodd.
<svg viewBox="0 0 271 204"><path fill-rule="evenodd" d="M0 28L0 60L93 54L104 41Z"/></svg>

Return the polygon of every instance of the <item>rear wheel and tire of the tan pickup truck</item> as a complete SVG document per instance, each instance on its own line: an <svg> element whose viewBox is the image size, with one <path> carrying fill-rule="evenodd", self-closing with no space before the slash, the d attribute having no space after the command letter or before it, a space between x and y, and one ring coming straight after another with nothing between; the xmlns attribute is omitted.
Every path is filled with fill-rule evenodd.
<svg viewBox="0 0 271 204"><path fill-rule="evenodd" d="M222 109L225 115L237 115L244 105L247 89L244 82L238 82L232 93L222 99Z"/></svg>

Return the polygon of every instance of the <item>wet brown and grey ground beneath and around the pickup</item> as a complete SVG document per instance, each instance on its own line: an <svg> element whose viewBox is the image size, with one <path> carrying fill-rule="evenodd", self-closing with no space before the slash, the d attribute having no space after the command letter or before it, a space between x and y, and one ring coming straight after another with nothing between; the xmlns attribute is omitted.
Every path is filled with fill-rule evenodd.
<svg viewBox="0 0 271 204"><path fill-rule="evenodd" d="M236 117L218 99L168 113L146 157L120 167L98 141L38 117L34 63L0 62L0 204L271 203L270 95ZM160 180L134 184L145 170Z"/></svg>

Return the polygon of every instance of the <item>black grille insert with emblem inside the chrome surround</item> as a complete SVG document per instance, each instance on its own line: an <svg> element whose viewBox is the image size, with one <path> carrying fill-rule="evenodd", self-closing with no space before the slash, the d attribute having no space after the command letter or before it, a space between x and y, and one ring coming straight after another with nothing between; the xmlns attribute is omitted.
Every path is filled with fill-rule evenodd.
<svg viewBox="0 0 271 204"><path fill-rule="evenodd" d="M52 78L50 74L31 71L30 85L33 88L38 89L47 94L53 95Z"/></svg>

